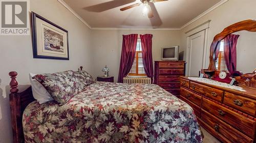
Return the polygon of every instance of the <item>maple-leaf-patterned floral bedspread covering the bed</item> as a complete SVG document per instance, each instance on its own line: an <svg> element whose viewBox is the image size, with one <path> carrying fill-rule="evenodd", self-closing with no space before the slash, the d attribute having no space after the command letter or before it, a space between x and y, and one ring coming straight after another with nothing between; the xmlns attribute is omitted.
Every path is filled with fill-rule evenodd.
<svg viewBox="0 0 256 143"><path fill-rule="evenodd" d="M30 103L26 142L202 142L193 109L155 84L95 82L66 104Z"/></svg>

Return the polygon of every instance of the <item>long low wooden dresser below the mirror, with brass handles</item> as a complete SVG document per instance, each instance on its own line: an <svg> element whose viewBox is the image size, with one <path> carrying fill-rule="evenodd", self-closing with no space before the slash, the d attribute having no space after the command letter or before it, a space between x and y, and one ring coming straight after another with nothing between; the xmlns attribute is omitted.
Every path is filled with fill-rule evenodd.
<svg viewBox="0 0 256 143"><path fill-rule="evenodd" d="M256 142L256 89L231 90L181 77L181 99L222 142Z"/></svg>

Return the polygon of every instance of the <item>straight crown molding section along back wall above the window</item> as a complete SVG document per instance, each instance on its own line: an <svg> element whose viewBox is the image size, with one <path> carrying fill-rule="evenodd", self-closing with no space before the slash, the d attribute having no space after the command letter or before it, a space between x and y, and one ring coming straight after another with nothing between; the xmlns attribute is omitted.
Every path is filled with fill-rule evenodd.
<svg viewBox="0 0 256 143"><path fill-rule="evenodd" d="M131 28L116 28L116 27L92 27L92 30L153 30L153 31L177 31L181 28L145 28L145 27L131 27Z"/></svg>

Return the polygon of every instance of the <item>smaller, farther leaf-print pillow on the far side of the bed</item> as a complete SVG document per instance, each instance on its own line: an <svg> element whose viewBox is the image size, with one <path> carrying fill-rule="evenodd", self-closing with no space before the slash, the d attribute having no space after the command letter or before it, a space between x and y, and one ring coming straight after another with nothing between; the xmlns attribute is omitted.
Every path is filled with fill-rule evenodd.
<svg viewBox="0 0 256 143"><path fill-rule="evenodd" d="M82 92L88 85L95 82L94 78L84 70L74 72L73 80L75 80L74 86L78 92Z"/></svg>

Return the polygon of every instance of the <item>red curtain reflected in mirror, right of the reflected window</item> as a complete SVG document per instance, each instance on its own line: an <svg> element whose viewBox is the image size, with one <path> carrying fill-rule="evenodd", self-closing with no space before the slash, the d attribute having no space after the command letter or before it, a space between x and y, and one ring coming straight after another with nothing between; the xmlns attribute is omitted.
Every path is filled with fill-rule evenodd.
<svg viewBox="0 0 256 143"><path fill-rule="evenodd" d="M224 54L227 70L232 75L237 70L237 42L239 35L229 34L224 39Z"/></svg>

